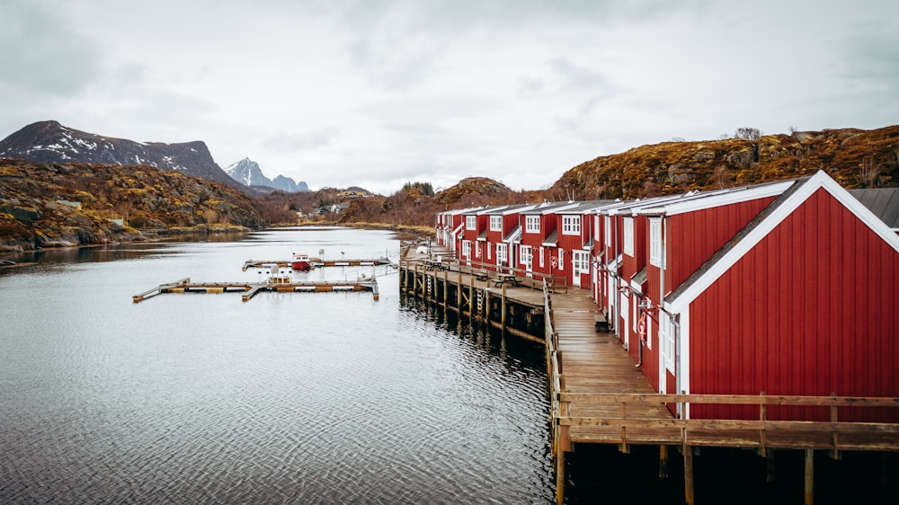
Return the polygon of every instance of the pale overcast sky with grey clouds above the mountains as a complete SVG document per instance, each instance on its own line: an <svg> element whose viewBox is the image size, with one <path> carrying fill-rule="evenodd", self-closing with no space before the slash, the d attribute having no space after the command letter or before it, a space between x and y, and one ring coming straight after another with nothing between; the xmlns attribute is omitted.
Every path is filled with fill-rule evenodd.
<svg viewBox="0 0 899 505"><path fill-rule="evenodd" d="M0 138L202 140L313 190L539 190L672 139L899 124L895 0L0 0L0 20Z"/></svg>

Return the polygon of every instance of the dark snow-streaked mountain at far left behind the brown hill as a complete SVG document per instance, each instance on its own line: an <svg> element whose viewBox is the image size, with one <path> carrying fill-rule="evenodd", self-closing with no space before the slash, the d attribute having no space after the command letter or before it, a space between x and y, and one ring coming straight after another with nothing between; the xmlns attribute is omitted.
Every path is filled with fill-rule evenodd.
<svg viewBox="0 0 899 505"><path fill-rule="evenodd" d="M4 138L0 141L0 158L63 164L147 164L239 189L200 140L177 144L135 142L67 128L52 120L32 123Z"/></svg>

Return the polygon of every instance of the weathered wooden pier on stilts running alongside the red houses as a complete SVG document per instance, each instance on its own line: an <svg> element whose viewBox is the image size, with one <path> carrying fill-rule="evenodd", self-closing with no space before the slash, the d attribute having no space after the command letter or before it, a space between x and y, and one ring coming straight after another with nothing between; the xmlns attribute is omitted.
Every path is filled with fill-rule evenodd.
<svg viewBox="0 0 899 505"><path fill-rule="evenodd" d="M434 261L437 254L444 261ZM754 450L773 468L775 450L802 451L805 503L814 503L814 455L899 451L899 424L841 421L858 409L899 408L899 398L840 396L657 394L604 321L588 290L553 289L549 279L510 279L505 272L446 261L448 252L408 254L400 263L401 292L504 332L546 344L551 399L556 501L565 499L565 454L581 444L606 444L624 453L634 445L658 447L660 475L672 454L683 458L684 501L696 502L694 452L699 447ZM604 327L605 325L603 325ZM690 404L755 405L752 420L681 419ZM779 406L829 412L828 421L782 421ZM773 418L773 419L772 419ZM886 457L882 460L886 469Z"/></svg>

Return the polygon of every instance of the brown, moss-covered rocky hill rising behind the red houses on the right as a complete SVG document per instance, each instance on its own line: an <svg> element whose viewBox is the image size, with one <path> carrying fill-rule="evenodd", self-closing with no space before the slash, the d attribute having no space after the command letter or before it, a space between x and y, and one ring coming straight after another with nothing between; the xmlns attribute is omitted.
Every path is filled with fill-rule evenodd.
<svg viewBox="0 0 899 505"><path fill-rule="evenodd" d="M550 193L556 199L635 199L778 181L818 170L848 189L899 185L899 126L640 146L575 166Z"/></svg>

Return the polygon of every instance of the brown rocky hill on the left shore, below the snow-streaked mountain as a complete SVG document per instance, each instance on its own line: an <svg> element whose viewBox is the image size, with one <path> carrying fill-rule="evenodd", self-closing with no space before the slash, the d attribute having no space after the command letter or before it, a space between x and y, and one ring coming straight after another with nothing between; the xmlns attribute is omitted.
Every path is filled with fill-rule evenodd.
<svg viewBox="0 0 899 505"><path fill-rule="evenodd" d="M0 160L0 252L111 244L138 228L264 224L242 192L147 165L35 164Z"/></svg>

